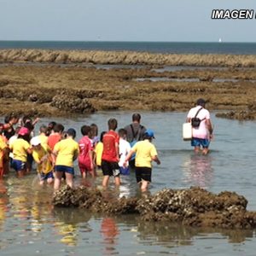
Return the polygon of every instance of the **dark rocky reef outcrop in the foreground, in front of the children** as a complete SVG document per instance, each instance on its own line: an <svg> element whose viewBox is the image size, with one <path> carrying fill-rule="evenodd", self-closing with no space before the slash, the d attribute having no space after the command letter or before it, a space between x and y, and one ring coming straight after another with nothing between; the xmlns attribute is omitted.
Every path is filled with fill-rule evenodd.
<svg viewBox="0 0 256 256"><path fill-rule="evenodd" d="M256 228L256 212L235 192L218 195L205 189L162 189L141 198L109 198L100 190L65 186L53 198L55 207L80 207L92 213L139 214L144 221L179 222L189 226L229 229Z"/></svg>

